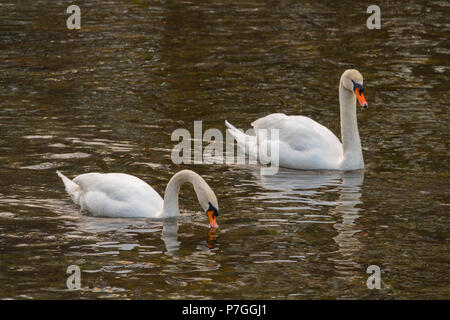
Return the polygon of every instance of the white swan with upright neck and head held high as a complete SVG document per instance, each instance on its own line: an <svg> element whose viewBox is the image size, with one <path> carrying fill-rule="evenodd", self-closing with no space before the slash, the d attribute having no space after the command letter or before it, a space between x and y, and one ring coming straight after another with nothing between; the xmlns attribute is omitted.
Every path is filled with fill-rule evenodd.
<svg viewBox="0 0 450 320"><path fill-rule="evenodd" d="M363 77L358 70L346 70L339 82L341 137L339 139L326 127L304 116L287 116L274 113L252 122L256 135L244 134L225 120L228 131L238 146L247 154L257 155L258 147L270 140L261 138L271 129L279 133L279 165L300 170L358 170L364 160L356 118L356 99L362 108L368 104L364 97ZM265 129L265 130L264 130Z"/></svg>

